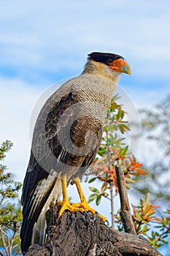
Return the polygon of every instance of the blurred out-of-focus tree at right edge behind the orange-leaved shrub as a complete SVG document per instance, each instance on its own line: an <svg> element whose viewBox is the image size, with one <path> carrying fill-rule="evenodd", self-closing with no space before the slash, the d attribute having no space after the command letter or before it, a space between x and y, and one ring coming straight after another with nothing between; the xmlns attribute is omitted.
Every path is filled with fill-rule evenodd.
<svg viewBox="0 0 170 256"><path fill-rule="evenodd" d="M150 173L141 182L136 177L137 189L153 201L170 208L170 94L152 109L140 110L142 123L142 155L144 168ZM150 186L152 184L152 186Z"/></svg>

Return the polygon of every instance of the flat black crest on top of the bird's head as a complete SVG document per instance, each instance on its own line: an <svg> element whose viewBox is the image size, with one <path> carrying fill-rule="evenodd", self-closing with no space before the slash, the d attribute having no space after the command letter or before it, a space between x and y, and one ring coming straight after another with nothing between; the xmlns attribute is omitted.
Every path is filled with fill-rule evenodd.
<svg viewBox="0 0 170 256"><path fill-rule="evenodd" d="M117 55L115 53L90 53L88 54L88 59L93 59L93 61L98 61L104 64L107 64L108 59L112 59L113 61L116 59L123 59L122 56Z"/></svg>

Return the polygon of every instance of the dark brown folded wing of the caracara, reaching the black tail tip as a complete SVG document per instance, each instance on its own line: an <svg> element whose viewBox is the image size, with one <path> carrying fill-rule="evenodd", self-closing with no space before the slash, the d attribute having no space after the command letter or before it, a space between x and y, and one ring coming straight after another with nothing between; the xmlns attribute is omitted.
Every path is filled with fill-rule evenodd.
<svg viewBox="0 0 170 256"><path fill-rule="evenodd" d="M59 175L81 176L93 162L101 141L102 124L91 116L79 116L78 100L71 88L56 91L42 108L34 128L31 157L23 183L22 250L31 244L39 218ZM78 116L78 118L77 118ZM88 136L92 131L95 136ZM83 148L88 144L87 148ZM77 148L79 154L77 155ZM76 174L77 173L77 174Z"/></svg>

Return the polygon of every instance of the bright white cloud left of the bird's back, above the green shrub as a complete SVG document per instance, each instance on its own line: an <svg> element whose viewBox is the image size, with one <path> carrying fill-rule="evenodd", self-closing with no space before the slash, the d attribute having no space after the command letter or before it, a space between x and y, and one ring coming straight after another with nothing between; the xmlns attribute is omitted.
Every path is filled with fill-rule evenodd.
<svg viewBox="0 0 170 256"><path fill-rule="evenodd" d="M30 148L29 118L42 90L34 86L30 87L20 80L4 78L0 78L0 85L0 142L11 140L14 143L4 163L12 173L15 173L15 178L22 181Z"/></svg>

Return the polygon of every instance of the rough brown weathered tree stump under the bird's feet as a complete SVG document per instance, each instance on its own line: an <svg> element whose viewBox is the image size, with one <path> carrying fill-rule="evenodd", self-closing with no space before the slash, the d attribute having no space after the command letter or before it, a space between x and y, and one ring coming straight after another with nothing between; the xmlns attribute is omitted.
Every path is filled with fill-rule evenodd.
<svg viewBox="0 0 170 256"><path fill-rule="evenodd" d="M148 242L131 233L111 230L97 214L47 211L47 243L31 246L26 256L143 256L161 255Z"/></svg>

